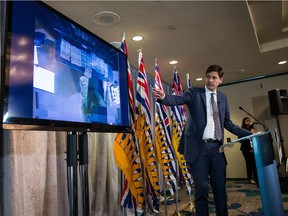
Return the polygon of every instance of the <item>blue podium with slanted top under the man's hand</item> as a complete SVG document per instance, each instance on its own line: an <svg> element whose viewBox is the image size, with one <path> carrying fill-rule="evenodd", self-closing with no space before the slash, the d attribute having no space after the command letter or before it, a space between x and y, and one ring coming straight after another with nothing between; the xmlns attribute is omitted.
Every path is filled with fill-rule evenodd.
<svg viewBox="0 0 288 216"><path fill-rule="evenodd" d="M284 207L270 132L259 132L220 147L252 139L264 216L284 216Z"/></svg>

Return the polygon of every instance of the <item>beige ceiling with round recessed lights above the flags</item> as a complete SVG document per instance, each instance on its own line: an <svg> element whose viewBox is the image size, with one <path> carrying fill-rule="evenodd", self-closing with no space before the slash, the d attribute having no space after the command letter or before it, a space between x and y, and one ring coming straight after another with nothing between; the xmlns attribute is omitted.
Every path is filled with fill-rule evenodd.
<svg viewBox="0 0 288 216"><path fill-rule="evenodd" d="M219 64L223 83L288 72L288 1L44 1L108 42L126 34L128 58L138 68L142 49L146 73L158 59L162 81L171 83L173 66L184 89L189 73L202 86L206 68ZM103 11L97 23L92 18ZM112 15L113 15L112 13ZM110 26L111 24L111 26ZM144 40L133 42L133 35Z"/></svg>

